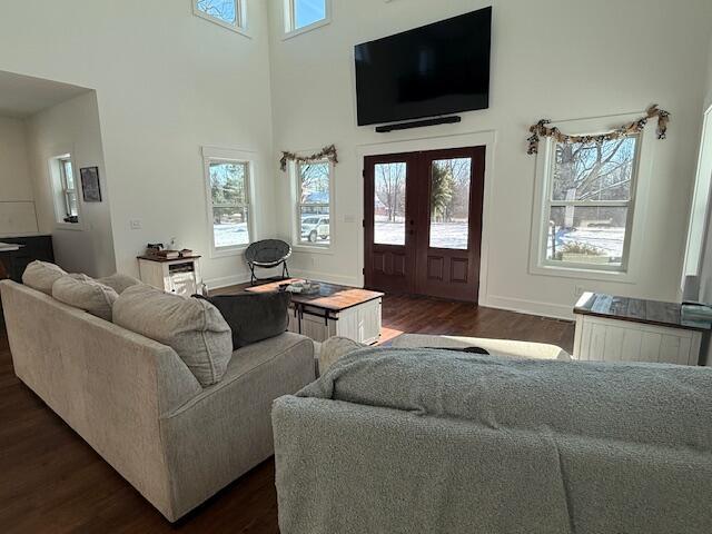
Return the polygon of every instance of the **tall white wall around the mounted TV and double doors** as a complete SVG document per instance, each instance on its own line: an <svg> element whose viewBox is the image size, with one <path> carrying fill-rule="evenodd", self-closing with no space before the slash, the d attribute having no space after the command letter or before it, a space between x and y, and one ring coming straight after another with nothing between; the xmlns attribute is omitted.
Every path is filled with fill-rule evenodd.
<svg viewBox="0 0 712 534"><path fill-rule="evenodd" d="M576 286L621 295L676 296L701 123L712 2L690 0L333 0L333 22L283 40L280 0L270 0L275 148L307 150L335 142L336 228L333 255L296 254L315 277L362 280L359 246L363 146L425 137L493 132L490 212L483 236L483 305L570 316ZM397 31L494 6L491 108L463 122L377 135L355 119L353 47ZM683 32L684 39L672 36ZM644 268L635 284L572 280L528 273L536 158L527 127L542 117L575 119L672 112L669 138L654 144ZM280 180L286 180L281 175ZM280 201L290 201L280 188ZM288 212L288 210L283 210ZM345 220L353 220L346 222ZM283 218L280 231L289 235Z"/></svg>

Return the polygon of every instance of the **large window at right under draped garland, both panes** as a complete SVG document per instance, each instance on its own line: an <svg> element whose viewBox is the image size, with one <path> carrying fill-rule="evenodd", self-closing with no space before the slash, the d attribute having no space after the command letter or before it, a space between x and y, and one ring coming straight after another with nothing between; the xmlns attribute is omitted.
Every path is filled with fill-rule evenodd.
<svg viewBox="0 0 712 534"><path fill-rule="evenodd" d="M639 141L548 140L541 264L626 270Z"/></svg>

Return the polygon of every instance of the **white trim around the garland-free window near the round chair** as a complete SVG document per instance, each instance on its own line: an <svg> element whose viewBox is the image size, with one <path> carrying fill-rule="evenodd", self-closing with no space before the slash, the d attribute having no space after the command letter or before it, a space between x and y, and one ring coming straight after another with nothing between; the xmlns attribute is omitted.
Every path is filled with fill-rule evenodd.
<svg viewBox="0 0 712 534"><path fill-rule="evenodd" d="M202 174L205 185L205 202L208 237L210 240L210 258L225 258L229 256L241 256L245 254L247 245L236 245L233 247L215 246L215 228L212 222L212 191L210 188L210 164L211 162L239 162L247 164L247 229L250 243L257 241L255 226L255 177L257 176L257 154L247 150L236 150L228 148L202 147Z"/></svg>

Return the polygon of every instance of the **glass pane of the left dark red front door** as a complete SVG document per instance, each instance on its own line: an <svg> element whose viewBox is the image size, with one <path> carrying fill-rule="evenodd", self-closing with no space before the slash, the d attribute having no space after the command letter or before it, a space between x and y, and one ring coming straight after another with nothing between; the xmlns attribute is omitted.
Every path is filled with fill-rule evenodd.
<svg viewBox="0 0 712 534"><path fill-rule="evenodd" d="M405 245L405 162L376 164L374 169L374 243Z"/></svg>

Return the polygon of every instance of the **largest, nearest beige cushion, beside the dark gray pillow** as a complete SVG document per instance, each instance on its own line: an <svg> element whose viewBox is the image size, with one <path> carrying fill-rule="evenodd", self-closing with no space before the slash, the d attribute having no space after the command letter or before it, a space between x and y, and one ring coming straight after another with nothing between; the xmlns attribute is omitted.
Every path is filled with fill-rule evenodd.
<svg viewBox="0 0 712 534"><path fill-rule="evenodd" d="M230 327L215 306L147 284L119 296L113 323L171 347L204 387L222 378L233 355Z"/></svg>

